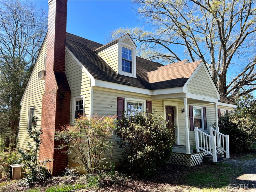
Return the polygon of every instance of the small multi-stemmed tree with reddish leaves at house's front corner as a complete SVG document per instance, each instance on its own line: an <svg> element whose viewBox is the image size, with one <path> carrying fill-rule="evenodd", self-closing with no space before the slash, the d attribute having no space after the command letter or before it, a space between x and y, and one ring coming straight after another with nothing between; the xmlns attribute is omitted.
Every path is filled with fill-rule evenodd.
<svg viewBox="0 0 256 192"><path fill-rule="evenodd" d="M79 164L81 161L87 172L97 173L105 159L104 153L113 146L111 137L116 129L115 119L116 116L80 116L75 119L74 126L66 125L56 132L55 139L62 142L58 148L69 155L71 161Z"/></svg>

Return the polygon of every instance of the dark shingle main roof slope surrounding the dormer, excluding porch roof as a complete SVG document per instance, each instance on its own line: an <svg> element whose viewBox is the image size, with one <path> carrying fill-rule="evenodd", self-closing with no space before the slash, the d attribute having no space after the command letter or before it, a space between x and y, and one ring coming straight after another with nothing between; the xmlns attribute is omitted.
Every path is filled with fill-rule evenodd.
<svg viewBox="0 0 256 192"><path fill-rule="evenodd" d="M163 66L160 63L136 57L137 78L117 74L97 53L95 49L102 46L97 42L67 33L66 46L97 80L118 83L151 90L147 72Z"/></svg>

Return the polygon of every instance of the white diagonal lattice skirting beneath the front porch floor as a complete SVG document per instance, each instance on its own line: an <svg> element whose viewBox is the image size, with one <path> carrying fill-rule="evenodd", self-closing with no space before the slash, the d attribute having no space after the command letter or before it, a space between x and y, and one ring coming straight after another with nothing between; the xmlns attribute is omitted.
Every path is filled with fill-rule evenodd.
<svg viewBox="0 0 256 192"><path fill-rule="evenodd" d="M220 149L217 149L217 153L221 154L222 157L224 156L223 151ZM203 156L207 154L207 152L195 154L173 153L168 163L192 167L201 164L203 162Z"/></svg>

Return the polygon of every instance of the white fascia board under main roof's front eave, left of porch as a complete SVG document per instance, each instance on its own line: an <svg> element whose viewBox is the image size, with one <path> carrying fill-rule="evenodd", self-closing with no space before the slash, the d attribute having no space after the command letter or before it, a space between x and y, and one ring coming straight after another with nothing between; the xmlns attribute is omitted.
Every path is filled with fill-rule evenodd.
<svg viewBox="0 0 256 192"><path fill-rule="evenodd" d="M127 86L127 85L121 85L118 83L101 81L101 80L97 80L97 79L95 80L94 86L108 88L108 89L115 89L115 90L120 90L120 91L129 91L129 92L133 92L133 93L152 95L152 91L148 90L148 89L142 89L142 88Z"/></svg>

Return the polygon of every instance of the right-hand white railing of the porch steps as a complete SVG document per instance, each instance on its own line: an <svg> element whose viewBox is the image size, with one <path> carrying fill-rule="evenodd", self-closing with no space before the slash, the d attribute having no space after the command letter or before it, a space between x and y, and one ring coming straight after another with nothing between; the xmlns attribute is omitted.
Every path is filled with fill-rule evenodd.
<svg viewBox="0 0 256 192"><path fill-rule="evenodd" d="M229 158L229 136L220 133L219 131L210 127L210 135L216 136L217 148L226 153L226 158Z"/></svg>

